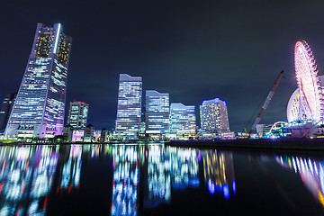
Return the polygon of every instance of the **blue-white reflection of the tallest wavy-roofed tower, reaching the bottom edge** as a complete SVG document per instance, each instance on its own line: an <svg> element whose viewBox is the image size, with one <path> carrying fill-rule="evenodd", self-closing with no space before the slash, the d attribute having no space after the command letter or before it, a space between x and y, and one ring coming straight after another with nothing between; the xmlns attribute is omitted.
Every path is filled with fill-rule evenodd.
<svg viewBox="0 0 324 216"><path fill-rule="evenodd" d="M137 215L138 148L130 145L112 148L112 215Z"/></svg>

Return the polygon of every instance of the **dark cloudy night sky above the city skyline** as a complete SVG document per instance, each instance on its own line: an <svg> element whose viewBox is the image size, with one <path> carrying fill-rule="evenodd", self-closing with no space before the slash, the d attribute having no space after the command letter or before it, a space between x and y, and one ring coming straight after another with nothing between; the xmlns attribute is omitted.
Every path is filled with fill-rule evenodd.
<svg viewBox="0 0 324 216"><path fill-rule="evenodd" d="M283 69L261 122L286 121L297 40L310 44L324 74L322 0L1 0L1 100L18 91L37 23L61 23L73 37L67 103L89 103L97 129L113 127L121 73L142 76L143 93L169 93L171 103L195 105L197 114L203 100L220 97L234 131Z"/></svg>

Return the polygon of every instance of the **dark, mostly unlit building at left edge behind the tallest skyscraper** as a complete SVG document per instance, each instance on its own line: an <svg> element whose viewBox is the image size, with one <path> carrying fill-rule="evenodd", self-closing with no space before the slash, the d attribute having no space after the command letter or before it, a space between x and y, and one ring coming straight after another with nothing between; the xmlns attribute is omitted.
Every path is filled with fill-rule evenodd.
<svg viewBox="0 0 324 216"><path fill-rule="evenodd" d="M4 132L17 94L6 94L0 111L0 132Z"/></svg>

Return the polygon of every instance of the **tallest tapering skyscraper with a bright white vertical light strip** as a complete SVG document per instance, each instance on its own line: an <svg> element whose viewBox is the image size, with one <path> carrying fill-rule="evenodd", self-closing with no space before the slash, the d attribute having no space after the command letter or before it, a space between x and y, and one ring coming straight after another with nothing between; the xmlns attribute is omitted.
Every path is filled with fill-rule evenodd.
<svg viewBox="0 0 324 216"><path fill-rule="evenodd" d="M61 135L71 37L60 23L37 24L31 55L4 136Z"/></svg>

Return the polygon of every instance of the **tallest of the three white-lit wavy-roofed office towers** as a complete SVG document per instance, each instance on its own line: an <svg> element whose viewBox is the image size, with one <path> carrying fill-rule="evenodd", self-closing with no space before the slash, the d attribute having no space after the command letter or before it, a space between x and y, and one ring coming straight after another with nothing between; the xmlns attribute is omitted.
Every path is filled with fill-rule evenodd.
<svg viewBox="0 0 324 216"><path fill-rule="evenodd" d="M115 137L127 139L139 137L141 92L140 76L120 75Z"/></svg>

